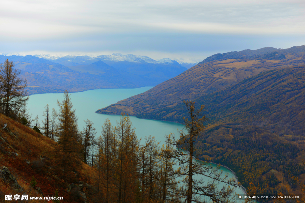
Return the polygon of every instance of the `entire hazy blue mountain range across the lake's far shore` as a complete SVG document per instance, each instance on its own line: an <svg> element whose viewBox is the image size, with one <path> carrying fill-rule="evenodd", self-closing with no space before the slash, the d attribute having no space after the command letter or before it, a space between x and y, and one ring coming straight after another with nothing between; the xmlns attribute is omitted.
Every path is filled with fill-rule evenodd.
<svg viewBox="0 0 305 203"><path fill-rule="evenodd" d="M101 88L139 88L156 86L187 68L177 61L163 58L155 61L147 56L132 54L65 56L61 58L20 55L0 55L15 63L27 79L29 94L86 91ZM48 59L46 59L48 58Z"/></svg>

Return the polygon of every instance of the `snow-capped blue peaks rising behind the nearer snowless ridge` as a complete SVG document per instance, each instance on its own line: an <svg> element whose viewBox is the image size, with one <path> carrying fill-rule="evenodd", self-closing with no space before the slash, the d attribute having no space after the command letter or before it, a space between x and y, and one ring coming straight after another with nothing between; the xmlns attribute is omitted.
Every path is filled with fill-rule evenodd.
<svg viewBox="0 0 305 203"><path fill-rule="evenodd" d="M48 54L37 54L36 56L67 66L72 70L82 70L81 72L90 72L91 74L93 74L92 67L95 67L95 65L92 64L102 61L106 65L124 73L124 75L128 75L129 78L133 78L132 82L138 86L155 86L187 70L187 68L181 66L177 61L169 58L163 58L156 61L148 56L134 54L123 55L115 53L96 57L71 55L58 56ZM89 71L89 69L92 70ZM138 79L139 77L145 80L140 82Z"/></svg>

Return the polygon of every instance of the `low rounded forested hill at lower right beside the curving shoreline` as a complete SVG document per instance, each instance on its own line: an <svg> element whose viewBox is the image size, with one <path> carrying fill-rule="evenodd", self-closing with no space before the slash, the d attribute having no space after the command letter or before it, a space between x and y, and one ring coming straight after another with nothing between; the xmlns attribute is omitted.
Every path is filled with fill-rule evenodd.
<svg viewBox="0 0 305 203"><path fill-rule="evenodd" d="M305 185L303 136L281 135L253 125L220 124L208 127L202 138L196 140L196 148L199 160L233 170L248 194L253 185L258 188L256 195L260 190L269 195L302 194Z"/></svg>

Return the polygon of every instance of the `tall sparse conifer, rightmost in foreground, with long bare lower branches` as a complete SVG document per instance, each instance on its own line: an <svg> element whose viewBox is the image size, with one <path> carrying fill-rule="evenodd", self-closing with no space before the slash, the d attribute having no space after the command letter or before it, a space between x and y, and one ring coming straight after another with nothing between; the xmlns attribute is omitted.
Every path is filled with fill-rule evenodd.
<svg viewBox="0 0 305 203"><path fill-rule="evenodd" d="M195 102L183 102L190 117L190 120L183 117L184 129L187 133L181 130L179 139L173 139L174 142L171 141L171 143L181 148L177 159L180 165L185 166L185 170L181 173L185 176L185 202L206 202L205 198L209 198L213 202L233 202L231 195L234 191L233 187L238 186L236 180L228 178L228 174L222 176L219 168L215 168L207 162L194 161L194 157L196 157L194 143L202 135L205 128L203 123L207 121L203 115L204 106L202 105L199 110L196 110ZM203 177L208 177L210 180L205 181ZM221 188L219 187L220 182L225 183ZM229 186L226 187L226 184Z"/></svg>

